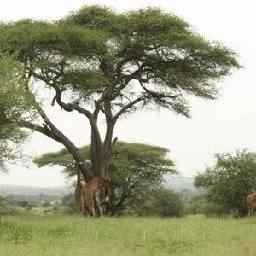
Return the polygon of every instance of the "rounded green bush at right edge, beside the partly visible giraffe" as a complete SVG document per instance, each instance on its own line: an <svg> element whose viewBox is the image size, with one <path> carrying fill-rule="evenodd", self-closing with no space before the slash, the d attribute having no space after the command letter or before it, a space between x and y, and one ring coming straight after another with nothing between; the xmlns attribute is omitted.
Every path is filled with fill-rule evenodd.
<svg viewBox="0 0 256 256"><path fill-rule="evenodd" d="M245 215L245 200L255 184L256 154L247 150L216 154L215 166L195 177L195 187L206 189L208 201L236 217Z"/></svg>

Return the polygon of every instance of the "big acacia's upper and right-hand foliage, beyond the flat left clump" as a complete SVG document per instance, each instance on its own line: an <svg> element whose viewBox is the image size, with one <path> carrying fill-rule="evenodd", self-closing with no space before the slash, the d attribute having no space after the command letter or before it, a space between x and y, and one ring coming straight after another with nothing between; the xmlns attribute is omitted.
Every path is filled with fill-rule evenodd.
<svg viewBox="0 0 256 256"><path fill-rule="evenodd" d="M154 103L188 116L189 106L182 94L177 94L177 88L213 99L218 96L213 82L230 74L230 68L240 67L232 50L207 42L177 15L161 9L139 9L119 15L112 9L90 6L63 21L107 35L108 52L102 58L102 66L109 74L115 72L113 63L125 67L126 73L129 66L132 70L139 65L136 76L132 72L125 76L143 84L143 90L137 94L145 96L139 108ZM149 85L152 83L155 86ZM116 108L125 105L124 93L125 90L119 95L121 98L115 98L122 102ZM132 93L136 95L135 90Z"/></svg>

